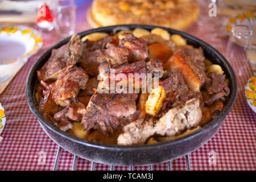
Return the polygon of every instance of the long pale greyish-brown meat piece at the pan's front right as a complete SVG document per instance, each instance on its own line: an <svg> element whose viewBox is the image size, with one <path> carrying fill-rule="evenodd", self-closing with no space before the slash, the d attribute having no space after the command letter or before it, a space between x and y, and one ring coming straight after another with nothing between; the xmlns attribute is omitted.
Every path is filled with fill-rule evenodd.
<svg viewBox="0 0 256 182"><path fill-rule="evenodd" d="M201 121L200 101L192 98L183 107L175 107L168 110L158 121L149 119L137 120L123 127L124 133L118 137L118 144L131 145L143 144L148 137L154 134L162 136L174 136L184 130L192 129Z"/></svg>

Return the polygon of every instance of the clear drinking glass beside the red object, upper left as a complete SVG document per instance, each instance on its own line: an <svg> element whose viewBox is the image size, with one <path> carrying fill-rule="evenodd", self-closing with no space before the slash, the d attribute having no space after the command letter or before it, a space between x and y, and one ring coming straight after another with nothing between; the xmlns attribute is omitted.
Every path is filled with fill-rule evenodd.
<svg viewBox="0 0 256 182"><path fill-rule="evenodd" d="M75 32L76 7L73 0L59 0L55 4L55 28L62 37Z"/></svg>

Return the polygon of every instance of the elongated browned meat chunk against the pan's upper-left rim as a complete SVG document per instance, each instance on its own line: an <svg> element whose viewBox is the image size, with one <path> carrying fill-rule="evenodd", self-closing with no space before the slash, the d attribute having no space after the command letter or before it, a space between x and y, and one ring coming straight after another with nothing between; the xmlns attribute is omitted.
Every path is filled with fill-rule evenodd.
<svg viewBox="0 0 256 182"><path fill-rule="evenodd" d="M79 35L73 35L70 42L58 49L53 49L51 57L37 72L38 80L55 81L67 69L73 67L82 56L82 46Z"/></svg>

